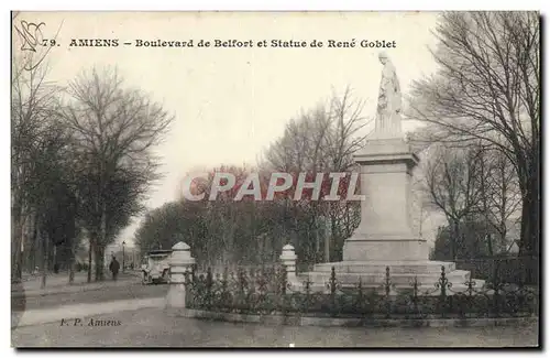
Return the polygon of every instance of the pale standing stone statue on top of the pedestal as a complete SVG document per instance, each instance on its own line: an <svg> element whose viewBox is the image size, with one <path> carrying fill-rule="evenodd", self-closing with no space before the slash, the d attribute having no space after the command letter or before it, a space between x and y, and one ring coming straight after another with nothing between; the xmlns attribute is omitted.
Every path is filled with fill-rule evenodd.
<svg viewBox="0 0 550 358"><path fill-rule="evenodd" d="M376 108L375 138L402 137L402 90L394 64L384 52L378 55L384 65Z"/></svg>

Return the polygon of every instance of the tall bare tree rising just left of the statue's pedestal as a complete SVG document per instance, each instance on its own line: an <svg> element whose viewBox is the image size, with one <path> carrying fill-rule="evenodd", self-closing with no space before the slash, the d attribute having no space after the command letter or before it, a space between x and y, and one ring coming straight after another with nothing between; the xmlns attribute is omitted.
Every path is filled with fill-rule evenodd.
<svg viewBox="0 0 550 358"><path fill-rule="evenodd" d="M341 96L334 94L327 104L302 112L292 120L284 135L265 153L266 166L286 172L317 173L348 172L353 165L353 153L364 144L362 132L366 120L362 116L364 102L353 98L350 87ZM293 217L297 220L298 207L310 213L308 235L314 239L315 256L330 261L331 239L342 241L359 225L358 203L344 202L290 202ZM330 224L330 234L321 235L323 223ZM296 223L294 227L297 227ZM324 240L322 240L324 238ZM341 242L339 242L341 243Z"/></svg>

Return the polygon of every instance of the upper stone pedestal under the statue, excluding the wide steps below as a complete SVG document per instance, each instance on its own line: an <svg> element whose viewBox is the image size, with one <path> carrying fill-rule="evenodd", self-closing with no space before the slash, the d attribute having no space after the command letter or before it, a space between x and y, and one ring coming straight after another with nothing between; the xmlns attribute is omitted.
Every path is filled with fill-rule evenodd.
<svg viewBox="0 0 550 358"><path fill-rule="evenodd" d="M343 247L344 261L428 260L410 221L411 171L418 158L402 139L377 139L355 155L361 165L361 224Z"/></svg>

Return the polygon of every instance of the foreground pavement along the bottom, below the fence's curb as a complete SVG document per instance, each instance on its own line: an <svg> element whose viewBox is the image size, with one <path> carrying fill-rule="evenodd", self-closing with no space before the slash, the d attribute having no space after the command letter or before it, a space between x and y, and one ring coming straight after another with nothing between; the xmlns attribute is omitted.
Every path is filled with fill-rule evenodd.
<svg viewBox="0 0 550 358"><path fill-rule="evenodd" d="M67 317L72 318L72 317ZM74 317L73 317L74 318ZM90 318L117 325L89 325ZM15 347L532 347L536 325L450 328L296 327L170 317L158 308L12 330Z"/></svg>

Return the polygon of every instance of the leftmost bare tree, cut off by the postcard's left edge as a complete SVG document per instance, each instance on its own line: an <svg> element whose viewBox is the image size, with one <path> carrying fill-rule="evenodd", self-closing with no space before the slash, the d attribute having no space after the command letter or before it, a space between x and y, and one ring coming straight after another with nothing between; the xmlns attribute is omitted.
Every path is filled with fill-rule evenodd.
<svg viewBox="0 0 550 358"><path fill-rule="evenodd" d="M54 84L46 80L48 73L45 61L47 51L23 51L22 39L14 13L12 21L14 34L12 42L11 77L11 217L12 217L12 280L21 280L23 265L23 243L28 240L24 232L33 231L36 225L32 218L36 211L42 180L35 160L42 149L56 141L58 132L55 122L56 91ZM48 152L51 153L51 152ZM44 192L41 192L44 194ZM26 229L25 229L26 228ZM45 275L46 268L43 267Z"/></svg>

